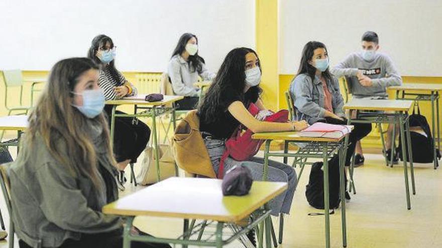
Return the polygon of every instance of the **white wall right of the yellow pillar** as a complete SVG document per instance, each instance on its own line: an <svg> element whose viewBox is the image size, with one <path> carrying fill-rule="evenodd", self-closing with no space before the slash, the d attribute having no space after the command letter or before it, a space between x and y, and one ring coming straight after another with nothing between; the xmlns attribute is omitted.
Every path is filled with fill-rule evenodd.
<svg viewBox="0 0 442 248"><path fill-rule="evenodd" d="M279 8L281 74L296 73L308 41L324 43L335 65L370 30L402 76L442 76L440 0L279 0Z"/></svg>

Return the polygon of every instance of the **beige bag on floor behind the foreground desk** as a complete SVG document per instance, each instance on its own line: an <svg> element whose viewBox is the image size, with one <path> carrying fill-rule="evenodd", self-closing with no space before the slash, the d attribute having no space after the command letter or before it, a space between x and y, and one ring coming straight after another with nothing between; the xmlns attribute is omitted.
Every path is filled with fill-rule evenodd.
<svg viewBox="0 0 442 248"><path fill-rule="evenodd" d="M172 150L169 145L160 144L160 180L175 176L175 160L173 159ZM157 165L155 159L155 148L148 146L144 150L144 159L140 172L138 173L137 182L142 185L153 184L157 182Z"/></svg>

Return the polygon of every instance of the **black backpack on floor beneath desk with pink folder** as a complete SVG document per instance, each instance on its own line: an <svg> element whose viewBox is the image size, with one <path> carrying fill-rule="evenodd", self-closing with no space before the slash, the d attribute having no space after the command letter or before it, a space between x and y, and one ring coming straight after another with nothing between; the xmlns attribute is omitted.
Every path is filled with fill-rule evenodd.
<svg viewBox="0 0 442 248"><path fill-rule="evenodd" d="M324 209L324 172L322 162L316 162L311 166L308 184L305 189L305 197L308 204L317 209ZM345 178L347 185L347 178ZM338 156L328 161L328 202L329 209L339 207L341 203L339 195L339 163Z"/></svg>

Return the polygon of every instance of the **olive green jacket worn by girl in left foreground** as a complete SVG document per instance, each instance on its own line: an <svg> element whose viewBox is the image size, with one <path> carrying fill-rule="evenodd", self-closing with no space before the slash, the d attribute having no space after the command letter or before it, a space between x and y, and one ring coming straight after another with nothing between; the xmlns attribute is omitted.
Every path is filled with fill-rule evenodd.
<svg viewBox="0 0 442 248"><path fill-rule="evenodd" d="M103 167L100 177L102 193L94 190L89 178L72 176L67 166L51 155L39 136L29 151L32 159L19 156L10 164L12 218L17 236L30 246L58 247L68 238L78 240L81 233L122 228L121 218L101 212L106 202L118 198L116 169L106 158L104 144L97 133L91 133L91 136L95 137L98 161ZM63 142L59 141L57 146L66 150ZM28 148L24 147L21 153L25 149ZM67 152L63 153L68 156ZM102 173L108 173L106 178L114 179L107 188Z"/></svg>

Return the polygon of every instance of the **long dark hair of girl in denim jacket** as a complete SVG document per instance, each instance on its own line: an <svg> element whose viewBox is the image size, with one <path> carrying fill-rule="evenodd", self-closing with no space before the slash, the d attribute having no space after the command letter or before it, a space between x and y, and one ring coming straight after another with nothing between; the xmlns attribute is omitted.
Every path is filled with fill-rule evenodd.
<svg viewBox="0 0 442 248"><path fill-rule="evenodd" d="M323 49L325 49L325 52L327 52L327 48L325 47L325 45L323 43L316 42L316 41L310 41L310 42L307 42L307 44L305 44L304 49L302 49L301 62L299 63L299 69L298 69L298 73L297 73L297 75L301 75L303 73L307 74L308 76L310 76L312 82L314 80L316 68L314 66L310 65L310 63L308 63L308 62L312 60L314 50L317 48L323 48ZM328 68L327 68L327 70L322 72L322 77L324 77L327 82L332 81L332 74L330 73Z"/></svg>

